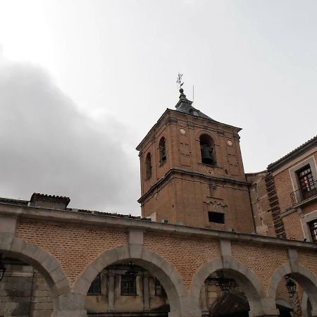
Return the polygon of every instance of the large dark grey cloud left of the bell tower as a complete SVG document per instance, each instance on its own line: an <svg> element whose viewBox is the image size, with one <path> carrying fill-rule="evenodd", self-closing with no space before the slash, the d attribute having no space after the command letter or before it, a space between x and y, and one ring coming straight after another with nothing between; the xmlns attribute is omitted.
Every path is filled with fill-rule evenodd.
<svg viewBox="0 0 317 317"><path fill-rule="evenodd" d="M27 63L0 65L0 111L1 197L42 192L77 208L139 212L137 162L119 142L129 132L117 120L87 118Z"/></svg>

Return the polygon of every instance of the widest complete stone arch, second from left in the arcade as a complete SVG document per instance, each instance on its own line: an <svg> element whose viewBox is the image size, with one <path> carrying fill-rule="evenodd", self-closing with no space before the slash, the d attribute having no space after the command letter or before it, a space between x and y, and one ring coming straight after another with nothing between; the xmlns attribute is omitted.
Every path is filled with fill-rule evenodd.
<svg viewBox="0 0 317 317"><path fill-rule="evenodd" d="M170 316L195 316L186 300L187 290L178 271L166 259L141 245L127 245L104 251L78 276L73 292L86 295L97 274L106 266L120 261L133 261L160 280L170 302Z"/></svg>

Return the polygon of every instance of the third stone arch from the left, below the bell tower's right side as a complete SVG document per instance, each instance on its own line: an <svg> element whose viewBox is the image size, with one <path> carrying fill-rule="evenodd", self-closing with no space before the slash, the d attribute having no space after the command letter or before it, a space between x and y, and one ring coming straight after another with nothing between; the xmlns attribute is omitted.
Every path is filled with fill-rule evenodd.
<svg viewBox="0 0 317 317"><path fill-rule="evenodd" d="M199 306L200 290L206 278L216 271L224 271L225 275L234 278L247 296L250 306L249 316L276 315L275 302L266 299L261 282L256 275L240 262L230 257L216 259L199 268L192 280L190 297L195 306Z"/></svg>

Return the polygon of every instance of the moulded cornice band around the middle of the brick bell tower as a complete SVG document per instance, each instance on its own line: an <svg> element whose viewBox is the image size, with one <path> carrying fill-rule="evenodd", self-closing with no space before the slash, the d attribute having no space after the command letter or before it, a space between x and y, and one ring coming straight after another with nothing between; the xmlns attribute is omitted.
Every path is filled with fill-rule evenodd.
<svg viewBox="0 0 317 317"><path fill-rule="evenodd" d="M146 193L144 193L142 195L142 197L140 197L138 199L138 202L140 204L142 204L142 201L149 196L149 194L151 194L152 192L154 192L155 189L159 188L163 182L165 182L166 180L168 180L169 178L172 178L173 175L175 174L181 174L181 175L189 175L189 176L194 176L197 178L206 178L208 180L221 180L223 182L229 182L231 184L235 184L235 185L244 185L244 186L250 186L249 182L244 182L242 180L235 180L234 178L226 178L223 176L218 176L218 175L206 175L203 173L199 173L199 172L193 172L192 170L181 170L180 168L171 168L170 170L168 170L168 172L163 176L163 178L161 178L159 181L157 181L154 185L152 185L149 190L147 190Z"/></svg>

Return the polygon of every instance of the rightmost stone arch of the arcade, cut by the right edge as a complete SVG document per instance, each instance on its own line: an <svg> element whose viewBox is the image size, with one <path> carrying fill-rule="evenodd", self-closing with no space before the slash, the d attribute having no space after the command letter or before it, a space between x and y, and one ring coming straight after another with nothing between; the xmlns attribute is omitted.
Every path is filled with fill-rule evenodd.
<svg viewBox="0 0 317 317"><path fill-rule="evenodd" d="M311 271L299 264L291 266L290 263L285 263L273 273L268 286L268 297L275 299L278 284L285 275L289 275L303 287L311 302L313 313L317 313L317 278Z"/></svg>

